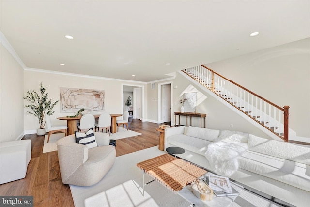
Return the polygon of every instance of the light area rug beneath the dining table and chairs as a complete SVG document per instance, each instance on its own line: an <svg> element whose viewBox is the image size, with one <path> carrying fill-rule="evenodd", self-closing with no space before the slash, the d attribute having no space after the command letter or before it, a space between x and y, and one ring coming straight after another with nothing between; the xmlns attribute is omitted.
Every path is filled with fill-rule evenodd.
<svg viewBox="0 0 310 207"><path fill-rule="evenodd" d="M134 137L134 136L139 136L141 133L119 128L119 132L116 133L111 133L110 140L119 140L123 138L128 138L128 137ZM52 152L52 151L57 151L57 145L56 142L60 138L64 137L64 133L55 133L51 134L49 137L49 142L47 143L47 137L48 135L45 135L44 137L44 143L43 143L43 153L47 152Z"/></svg>

